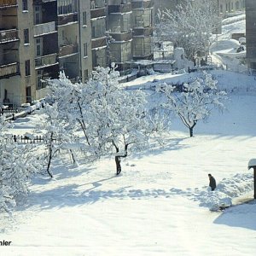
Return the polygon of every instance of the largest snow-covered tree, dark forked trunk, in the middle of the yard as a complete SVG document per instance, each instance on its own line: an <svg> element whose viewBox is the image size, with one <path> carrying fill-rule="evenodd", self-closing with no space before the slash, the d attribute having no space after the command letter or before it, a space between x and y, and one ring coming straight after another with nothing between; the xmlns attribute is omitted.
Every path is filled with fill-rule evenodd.
<svg viewBox="0 0 256 256"><path fill-rule="evenodd" d="M82 131L84 150L90 159L114 154L116 173L128 148L148 141L152 125L147 125L146 95L126 91L119 84L114 68L98 67L86 84L72 84L62 73L51 88L60 117Z"/></svg>

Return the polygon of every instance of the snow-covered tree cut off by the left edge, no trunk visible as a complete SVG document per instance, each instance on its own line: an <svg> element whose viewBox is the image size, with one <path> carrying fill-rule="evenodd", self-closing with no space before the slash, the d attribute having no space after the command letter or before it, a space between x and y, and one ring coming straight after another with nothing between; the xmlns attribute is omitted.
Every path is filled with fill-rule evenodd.
<svg viewBox="0 0 256 256"><path fill-rule="evenodd" d="M11 135L3 135L0 122L0 211L11 207L27 195L28 184L41 164L31 144L15 143Z"/></svg>

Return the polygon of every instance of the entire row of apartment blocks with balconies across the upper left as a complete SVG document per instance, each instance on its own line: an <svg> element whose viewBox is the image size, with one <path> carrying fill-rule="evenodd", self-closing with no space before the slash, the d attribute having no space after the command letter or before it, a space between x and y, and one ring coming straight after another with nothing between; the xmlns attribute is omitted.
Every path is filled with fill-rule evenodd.
<svg viewBox="0 0 256 256"><path fill-rule="evenodd" d="M84 82L151 59L152 20L152 0L0 0L0 106L43 97L60 71Z"/></svg>

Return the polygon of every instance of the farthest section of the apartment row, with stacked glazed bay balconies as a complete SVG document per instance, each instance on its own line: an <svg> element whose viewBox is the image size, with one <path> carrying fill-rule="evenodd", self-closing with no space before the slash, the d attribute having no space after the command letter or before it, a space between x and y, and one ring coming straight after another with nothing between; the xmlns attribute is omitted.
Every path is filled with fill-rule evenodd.
<svg viewBox="0 0 256 256"><path fill-rule="evenodd" d="M153 59L152 0L109 0L109 61L125 72L131 60Z"/></svg>

